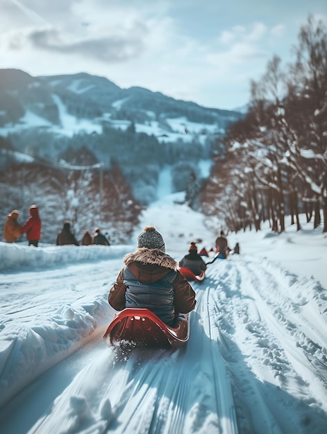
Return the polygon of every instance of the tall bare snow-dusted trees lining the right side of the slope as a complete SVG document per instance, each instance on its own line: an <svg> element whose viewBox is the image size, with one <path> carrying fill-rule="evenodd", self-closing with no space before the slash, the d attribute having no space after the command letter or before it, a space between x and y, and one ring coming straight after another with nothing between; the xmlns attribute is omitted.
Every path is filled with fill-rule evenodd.
<svg viewBox="0 0 327 434"><path fill-rule="evenodd" d="M225 153L201 193L203 211L235 232L285 230L285 214L301 229L299 213L327 232L327 29L308 17L294 47L295 60L282 67L269 60L251 82L244 119L233 124Z"/></svg>

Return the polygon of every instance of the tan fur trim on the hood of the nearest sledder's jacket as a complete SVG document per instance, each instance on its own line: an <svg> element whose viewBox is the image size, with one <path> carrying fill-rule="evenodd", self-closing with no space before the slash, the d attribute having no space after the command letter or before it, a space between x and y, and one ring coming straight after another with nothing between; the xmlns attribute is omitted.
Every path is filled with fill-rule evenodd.
<svg viewBox="0 0 327 434"><path fill-rule="evenodd" d="M135 252L124 256L124 263L129 266L132 262L140 262L144 265L151 264L171 270L178 270L178 263L169 254L159 249L138 248Z"/></svg>

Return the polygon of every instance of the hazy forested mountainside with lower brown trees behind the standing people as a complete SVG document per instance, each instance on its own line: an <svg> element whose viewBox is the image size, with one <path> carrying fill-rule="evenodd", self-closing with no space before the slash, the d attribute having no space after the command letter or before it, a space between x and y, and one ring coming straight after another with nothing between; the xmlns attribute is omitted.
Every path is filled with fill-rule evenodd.
<svg viewBox="0 0 327 434"><path fill-rule="evenodd" d="M12 209L24 223L37 203L43 242L56 240L65 219L79 240L99 225L113 243L126 242L142 207L158 198L163 170L171 191L188 189L194 202L202 163L221 153L226 128L241 117L86 73L32 77L2 69L3 223Z"/></svg>

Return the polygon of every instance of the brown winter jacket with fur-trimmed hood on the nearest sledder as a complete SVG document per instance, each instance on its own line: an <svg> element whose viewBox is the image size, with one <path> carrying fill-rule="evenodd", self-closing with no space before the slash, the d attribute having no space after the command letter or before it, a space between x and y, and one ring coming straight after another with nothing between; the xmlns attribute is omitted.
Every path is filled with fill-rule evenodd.
<svg viewBox="0 0 327 434"><path fill-rule="evenodd" d="M137 291L136 294L134 294L134 300L138 304L138 307L148 307L148 309L154 311L154 309L151 309L151 306L156 304L156 297L158 297L157 300L159 302L160 300L166 300L166 298L169 297L168 289L167 296L163 299L162 290L165 289L156 289L156 282L158 282L160 279L165 281L165 277L169 275L169 281L171 281L174 299L171 300L171 309L173 309L171 312L172 315L174 316L174 314L178 313L188 313L194 309L196 304L194 290L188 283L187 279L185 279L181 272L178 271L178 263L168 254L158 249L138 248L135 252L126 254L124 257L124 263L125 266L119 272L117 281L110 289L110 293L108 295L108 302L110 306L117 311L121 311L126 307L126 286L124 284L126 271L128 275L132 275L133 280L137 283L135 288L141 289L141 291L137 289L137 291L140 291L140 294ZM126 270L126 268L128 270ZM142 293L142 283L144 286L146 286L146 288L150 288L150 290L151 284L153 284L153 292L150 295L147 295L149 306L144 305L144 300L146 300L144 299L144 296L146 297L146 295ZM156 295L156 290L158 290L158 295ZM140 301L140 304L138 301Z"/></svg>

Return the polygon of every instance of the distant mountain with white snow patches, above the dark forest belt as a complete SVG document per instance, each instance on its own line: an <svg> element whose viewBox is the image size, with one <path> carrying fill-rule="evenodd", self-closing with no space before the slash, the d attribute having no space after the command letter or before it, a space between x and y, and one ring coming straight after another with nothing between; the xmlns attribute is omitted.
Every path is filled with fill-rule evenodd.
<svg viewBox="0 0 327 434"><path fill-rule="evenodd" d="M32 77L24 71L0 69L3 135L18 127L70 136L80 131L101 134L103 125L126 130L133 122L137 131L184 140L186 132L222 132L240 116L239 112L201 107L142 87L121 89L107 78L87 73ZM171 133L175 136L170 137Z"/></svg>

